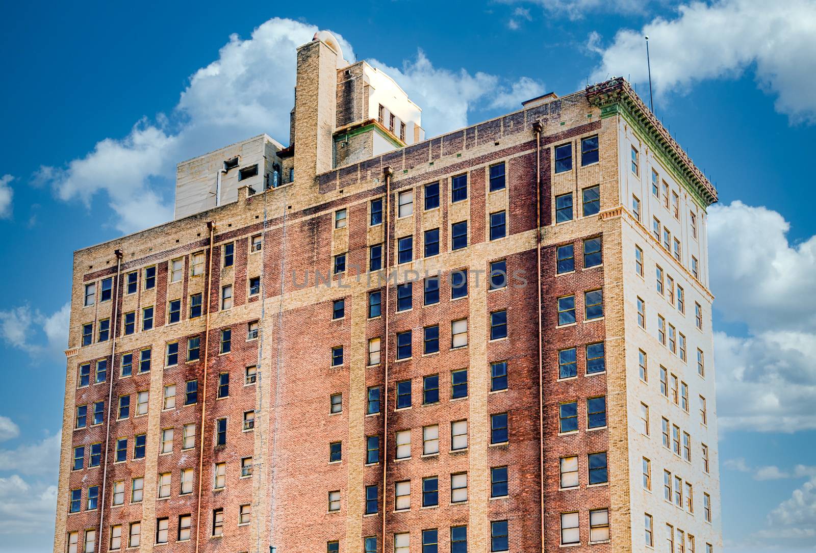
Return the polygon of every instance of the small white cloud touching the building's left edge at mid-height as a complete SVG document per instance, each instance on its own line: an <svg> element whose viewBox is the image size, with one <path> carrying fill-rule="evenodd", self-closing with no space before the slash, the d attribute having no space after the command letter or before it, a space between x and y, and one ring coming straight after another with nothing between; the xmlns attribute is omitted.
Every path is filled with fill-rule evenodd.
<svg viewBox="0 0 816 553"><path fill-rule="evenodd" d="M28 303L0 311L0 338L32 356L59 356L68 347L70 312L70 303L51 315L43 315Z"/></svg>

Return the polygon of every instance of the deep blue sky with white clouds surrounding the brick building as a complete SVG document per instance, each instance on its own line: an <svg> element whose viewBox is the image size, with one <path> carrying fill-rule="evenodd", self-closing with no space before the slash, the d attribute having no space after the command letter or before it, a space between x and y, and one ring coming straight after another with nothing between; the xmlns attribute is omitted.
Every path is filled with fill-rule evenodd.
<svg viewBox="0 0 816 553"><path fill-rule="evenodd" d="M172 218L175 163L286 144L334 32L434 136L623 75L716 184L725 551L816 548L816 0L9 2L0 34L0 551L53 539L74 250ZM804 203L803 203L804 202Z"/></svg>

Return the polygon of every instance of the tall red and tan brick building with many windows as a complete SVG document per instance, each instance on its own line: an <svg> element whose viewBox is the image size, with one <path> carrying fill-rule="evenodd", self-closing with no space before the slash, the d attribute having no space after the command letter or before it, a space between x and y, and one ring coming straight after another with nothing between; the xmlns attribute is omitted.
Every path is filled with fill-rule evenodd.
<svg viewBox="0 0 816 553"><path fill-rule="evenodd" d="M74 256L54 551L721 551L716 191L628 82L424 139L297 59L288 147Z"/></svg>

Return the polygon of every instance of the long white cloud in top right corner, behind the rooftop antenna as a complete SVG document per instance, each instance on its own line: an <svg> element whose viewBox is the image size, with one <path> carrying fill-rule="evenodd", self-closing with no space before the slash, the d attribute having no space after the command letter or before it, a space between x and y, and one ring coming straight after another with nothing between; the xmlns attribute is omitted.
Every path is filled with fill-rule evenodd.
<svg viewBox="0 0 816 553"><path fill-rule="evenodd" d="M601 51L592 80L631 75L633 82L646 82L645 35L650 38L652 82L659 99L697 82L740 77L751 69L757 86L776 96L779 113L792 123L816 123L814 0L684 4L672 19L659 16L640 30L616 33ZM597 47L594 36L591 42L591 48Z"/></svg>

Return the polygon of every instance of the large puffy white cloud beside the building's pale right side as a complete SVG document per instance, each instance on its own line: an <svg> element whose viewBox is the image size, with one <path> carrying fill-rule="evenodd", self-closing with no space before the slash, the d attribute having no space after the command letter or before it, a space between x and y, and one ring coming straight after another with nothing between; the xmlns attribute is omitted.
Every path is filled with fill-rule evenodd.
<svg viewBox="0 0 816 553"><path fill-rule="evenodd" d="M776 211L712 206L708 219L714 307L746 336L714 335L722 428L816 428L816 237L792 245Z"/></svg>

